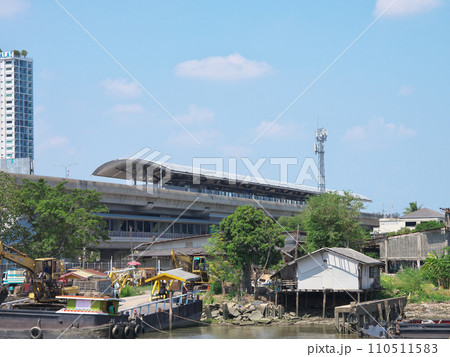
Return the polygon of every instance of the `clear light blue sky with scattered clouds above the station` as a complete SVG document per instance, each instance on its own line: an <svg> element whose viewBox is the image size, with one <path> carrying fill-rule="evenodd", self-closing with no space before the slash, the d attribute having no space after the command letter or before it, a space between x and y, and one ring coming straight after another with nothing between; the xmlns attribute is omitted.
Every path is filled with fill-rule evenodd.
<svg viewBox="0 0 450 357"><path fill-rule="evenodd" d="M448 1L58 2L0 0L0 48L34 60L36 174L77 163L70 177L97 180L149 147L183 165L267 158L273 180L269 158L297 157L294 182L319 124L327 188L371 212L449 206Z"/></svg>

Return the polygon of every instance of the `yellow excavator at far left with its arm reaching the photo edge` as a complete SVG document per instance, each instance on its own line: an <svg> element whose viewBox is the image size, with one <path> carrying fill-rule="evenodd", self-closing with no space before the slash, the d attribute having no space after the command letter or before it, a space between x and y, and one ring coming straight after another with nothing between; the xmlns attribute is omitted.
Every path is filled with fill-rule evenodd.
<svg viewBox="0 0 450 357"><path fill-rule="evenodd" d="M10 247L0 241L0 261L7 259L26 269L25 283L30 286L29 299L35 303L49 303L57 301L55 296L74 293L73 288L68 291L58 281L64 274L64 262L55 258L32 259L25 253ZM76 290L76 288L75 288ZM5 294L6 292L6 294ZM8 289L0 288L0 303L8 296Z"/></svg>

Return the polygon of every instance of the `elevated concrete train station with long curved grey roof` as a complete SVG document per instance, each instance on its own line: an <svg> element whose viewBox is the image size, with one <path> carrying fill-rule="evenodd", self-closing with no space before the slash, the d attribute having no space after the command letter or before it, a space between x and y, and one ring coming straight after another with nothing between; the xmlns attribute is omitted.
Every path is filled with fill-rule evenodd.
<svg viewBox="0 0 450 357"><path fill-rule="evenodd" d="M316 187L256 180L248 176L194 172L191 167L147 160L118 159L99 166L93 176L116 179L117 183L37 175L21 179L44 179L50 185L67 181L68 189L95 189L109 213L101 213L108 224L110 241L99 245L102 260L121 259L136 246L174 238L210 233L211 226L232 214L236 207L263 208L274 219L301 212L306 200L319 194ZM370 199L356 195L365 202ZM379 216L363 214L368 228Z"/></svg>

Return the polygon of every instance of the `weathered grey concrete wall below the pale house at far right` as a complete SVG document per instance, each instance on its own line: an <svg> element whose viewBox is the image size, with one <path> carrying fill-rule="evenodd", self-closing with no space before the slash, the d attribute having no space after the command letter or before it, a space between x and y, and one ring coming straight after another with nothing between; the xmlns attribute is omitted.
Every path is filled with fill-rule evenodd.
<svg viewBox="0 0 450 357"><path fill-rule="evenodd" d="M380 259L423 261L433 251L441 255L449 242L450 232L445 228L389 237L380 242Z"/></svg>

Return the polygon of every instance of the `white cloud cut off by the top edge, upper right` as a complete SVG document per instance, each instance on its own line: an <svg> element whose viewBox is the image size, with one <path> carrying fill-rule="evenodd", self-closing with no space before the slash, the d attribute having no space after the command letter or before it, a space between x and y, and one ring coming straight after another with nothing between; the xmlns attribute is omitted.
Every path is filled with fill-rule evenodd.
<svg viewBox="0 0 450 357"><path fill-rule="evenodd" d="M377 0L375 15L380 15L393 0ZM427 12L443 4L442 0L396 0L385 16L408 16Z"/></svg>

